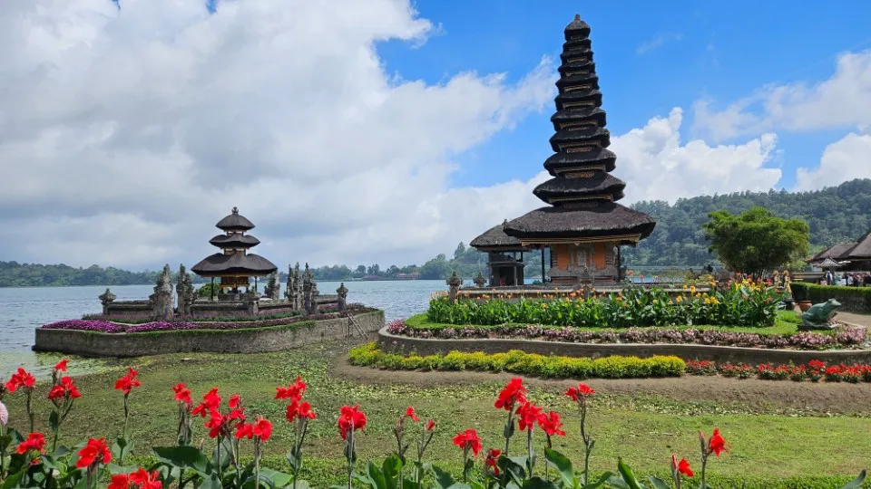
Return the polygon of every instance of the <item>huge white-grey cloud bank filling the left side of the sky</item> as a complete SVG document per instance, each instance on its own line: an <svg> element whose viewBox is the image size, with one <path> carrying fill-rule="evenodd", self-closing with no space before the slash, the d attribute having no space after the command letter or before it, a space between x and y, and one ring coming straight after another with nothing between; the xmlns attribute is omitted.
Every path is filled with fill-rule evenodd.
<svg viewBox="0 0 871 489"><path fill-rule="evenodd" d="M190 265L235 205L276 264L405 264L522 213L540 177L451 189L452 158L553 67L387 73L375 43L433 30L400 0L0 4L0 259Z"/></svg>

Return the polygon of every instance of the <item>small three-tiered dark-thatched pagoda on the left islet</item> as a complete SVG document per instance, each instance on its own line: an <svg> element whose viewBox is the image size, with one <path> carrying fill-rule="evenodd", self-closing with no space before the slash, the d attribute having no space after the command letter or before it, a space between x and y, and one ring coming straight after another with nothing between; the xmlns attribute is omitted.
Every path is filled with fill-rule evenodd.
<svg viewBox="0 0 871 489"><path fill-rule="evenodd" d="M193 273L201 277L209 277L215 282L220 277L221 289L238 291L240 287L250 289L250 277L254 277L254 290L257 290L257 277L269 275L278 270L266 258L259 254L249 253L249 250L260 244L260 240L246 233L254 225L245 216L239 214L239 209L233 207L230 216L218 221L217 226L223 234L209 240L211 245L220 248L220 253L211 254L199 264L191 267Z"/></svg>

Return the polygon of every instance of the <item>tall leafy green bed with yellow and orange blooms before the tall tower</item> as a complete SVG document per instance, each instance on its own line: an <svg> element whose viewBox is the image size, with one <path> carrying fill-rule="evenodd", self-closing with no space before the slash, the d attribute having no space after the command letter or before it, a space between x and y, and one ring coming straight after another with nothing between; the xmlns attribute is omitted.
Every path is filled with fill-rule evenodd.
<svg viewBox="0 0 871 489"><path fill-rule="evenodd" d="M551 301L433 299L427 317L448 324L496 325L506 322L628 328L680 324L730 324L741 327L773 326L781 295L772 288L744 282L722 291L685 293L672 298L653 288L627 288L619 293Z"/></svg>

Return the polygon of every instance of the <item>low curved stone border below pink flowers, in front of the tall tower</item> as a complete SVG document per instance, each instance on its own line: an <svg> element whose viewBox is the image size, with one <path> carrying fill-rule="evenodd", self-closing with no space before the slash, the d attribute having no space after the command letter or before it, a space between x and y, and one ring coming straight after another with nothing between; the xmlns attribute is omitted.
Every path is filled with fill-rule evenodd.
<svg viewBox="0 0 871 489"><path fill-rule="evenodd" d="M668 343L567 343L562 341L474 339L439 340L398 336L387 331L378 331L378 346L384 351L418 355L432 355L449 351L487 354L523 350L526 353L560 355L567 357L590 357L597 359L612 355L647 358L654 355L674 355L683 360L714 360L717 362L759 363L807 363L822 360L826 363L871 363L871 350L774 350L768 348L742 348L712 345Z"/></svg>

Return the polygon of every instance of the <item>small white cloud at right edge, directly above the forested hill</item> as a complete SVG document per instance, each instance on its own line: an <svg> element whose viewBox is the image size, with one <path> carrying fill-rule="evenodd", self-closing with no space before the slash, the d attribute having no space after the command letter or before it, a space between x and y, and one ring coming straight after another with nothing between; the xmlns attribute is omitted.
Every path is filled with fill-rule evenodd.
<svg viewBox="0 0 871 489"><path fill-rule="evenodd" d="M798 168L796 190L837 186L854 178L871 178L871 134L853 132L828 145L817 168Z"/></svg>

